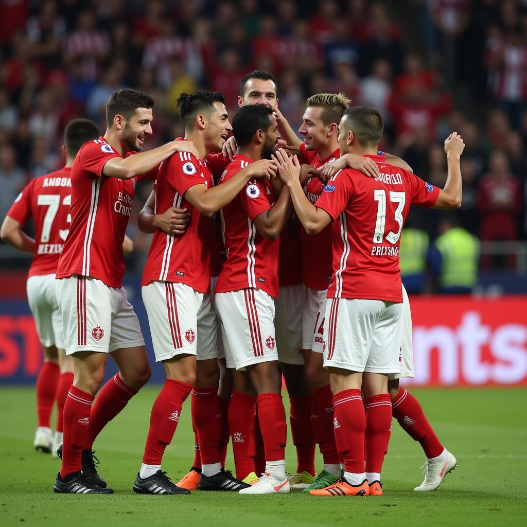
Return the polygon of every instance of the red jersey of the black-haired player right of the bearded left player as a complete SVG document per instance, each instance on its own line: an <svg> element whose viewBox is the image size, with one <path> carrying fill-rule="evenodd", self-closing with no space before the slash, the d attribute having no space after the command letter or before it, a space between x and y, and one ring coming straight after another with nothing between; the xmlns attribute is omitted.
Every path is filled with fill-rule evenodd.
<svg viewBox="0 0 527 527"><path fill-rule="evenodd" d="M184 199L184 193L196 185L214 186L207 162L188 152L177 152L161 164L154 212L162 214L169 207L180 207L187 209L190 220L182 235L159 229L154 232L141 285L161 280L181 282L203 293L210 291L213 219Z"/></svg>

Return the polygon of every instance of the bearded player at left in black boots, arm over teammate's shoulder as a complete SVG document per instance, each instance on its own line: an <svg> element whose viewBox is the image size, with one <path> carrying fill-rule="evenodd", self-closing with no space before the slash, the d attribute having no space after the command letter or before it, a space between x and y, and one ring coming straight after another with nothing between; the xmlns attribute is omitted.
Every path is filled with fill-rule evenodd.
<svg viewBox="0 0 527 527"><path fill-rule="evenodd" d="M58 260L55 293L62 318L66 355L75 377L64 404L62 469L58 493L113 493L97 474L92 445L150 377L139 320L126 300L123 239L136 178L192 144L172 141L140 152L152 134L153 99L122 89L106 104L103 137L85 143L71 169L71 225ZM94 396L111 354L119 373ZM93 408L92 408L93 404Z"/></svg>

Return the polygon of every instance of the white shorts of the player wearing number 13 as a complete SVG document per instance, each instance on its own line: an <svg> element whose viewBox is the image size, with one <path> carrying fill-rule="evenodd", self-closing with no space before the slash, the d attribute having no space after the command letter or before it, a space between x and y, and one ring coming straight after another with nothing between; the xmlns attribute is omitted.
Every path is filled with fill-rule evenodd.
<svg viewBox="0 0 527 527"><path fill-rule="evenodd" d="M328 298L324 367L352 372L398 373L402 304L384 300Z"/></svg>

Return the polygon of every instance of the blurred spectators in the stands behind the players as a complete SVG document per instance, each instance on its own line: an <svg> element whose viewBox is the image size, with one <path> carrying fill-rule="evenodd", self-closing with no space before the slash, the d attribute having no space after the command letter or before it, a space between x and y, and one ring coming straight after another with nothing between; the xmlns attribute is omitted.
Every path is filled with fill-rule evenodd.
<svg viewBox="0 0 527 527"><path fill-rule="evenodd" d="M61 166L67 121L87 116L104 131L106 101L120 87L154 97L152 148L182 135L175 110L180 93L221 91L232 115L241 77L264 69L277 76L280 110L294 129L307 96L342 91L383 114L383 150L441 187L443 141L450 131L462 135L462 208L448 221L434 213L409 217L403 274L422 276L423 266L438 272L456 243L473 261L472 275L478 266L525 273L527 1L0 5L2 218L28 180ZM135 251L129 265L136 269L149 238L136 230L135 218L150 189L140 189L130 220ZM445 240L449 231L457 236ZM0 249L0 266L16 263L9 248ZM417 280L415 290L423 288Z"/></svg>

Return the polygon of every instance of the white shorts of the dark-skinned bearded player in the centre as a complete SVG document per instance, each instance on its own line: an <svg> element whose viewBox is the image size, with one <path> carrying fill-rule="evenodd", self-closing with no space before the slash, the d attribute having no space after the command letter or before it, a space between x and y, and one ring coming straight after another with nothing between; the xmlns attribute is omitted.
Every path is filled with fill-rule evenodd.
<svg viewBox="0 0 527 527"><path fill-rule="evenodd" d="M275 302L261 289L216 293L228 368L278 360Z"/></svg>

